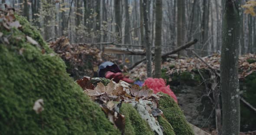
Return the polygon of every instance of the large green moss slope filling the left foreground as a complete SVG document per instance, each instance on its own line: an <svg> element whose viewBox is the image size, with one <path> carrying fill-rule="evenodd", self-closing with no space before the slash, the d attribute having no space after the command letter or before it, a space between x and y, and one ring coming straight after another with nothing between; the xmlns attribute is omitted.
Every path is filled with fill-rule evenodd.
<svg viewBox="0 0 256 135"><path fill-rule="evenodd" d="M10 45L0 43L1 134L120 135L100 107L69 77L64 62L53 55L39 32L23 17L16 18L23 29L5 31L10 34ZM26 42L26 35L35 39L46 53ZM38 99L44 100L40 114L33 110Z"/></svg>

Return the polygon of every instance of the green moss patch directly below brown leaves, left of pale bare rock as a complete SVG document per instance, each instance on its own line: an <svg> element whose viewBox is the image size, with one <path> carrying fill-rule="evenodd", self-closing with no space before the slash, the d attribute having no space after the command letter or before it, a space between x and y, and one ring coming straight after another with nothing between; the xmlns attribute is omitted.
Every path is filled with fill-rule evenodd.
<svg viewBox="0 0 256 135"><path fill-rule="evenodd" d="M148 123L141 118L137 110L130 104L123 103L120 113L125 115L124 135L154 135Z"/></svg>

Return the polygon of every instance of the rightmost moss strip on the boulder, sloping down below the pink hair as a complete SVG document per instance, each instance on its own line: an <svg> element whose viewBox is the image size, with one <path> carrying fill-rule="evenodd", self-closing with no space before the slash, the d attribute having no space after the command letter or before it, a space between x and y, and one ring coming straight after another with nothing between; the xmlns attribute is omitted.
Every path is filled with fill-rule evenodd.
<svg viewBox="0 0 256 135"><path fill-rule="evenodd" d="M164 117L174 128L176 135L194 135L193 130L185 119L184 113L181 111L175 101L167 94L161 93L163 96L159 100L159 109L164 113Z"/></svg>

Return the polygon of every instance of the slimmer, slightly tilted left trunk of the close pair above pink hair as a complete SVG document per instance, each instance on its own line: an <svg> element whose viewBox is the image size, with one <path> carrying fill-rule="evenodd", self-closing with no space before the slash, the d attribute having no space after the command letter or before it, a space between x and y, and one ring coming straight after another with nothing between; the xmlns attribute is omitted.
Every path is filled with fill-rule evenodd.
<svg viewBox="0 0 256 135"><path fill-rule="evenodd" d="M146 43L146 59L147 59L147 77L152 77L152 64L151 64L151 43L149 42L149 17L147 11L148 0L143 0L143 20L144 20L144 28L145 28L145 43Z"/></svg>

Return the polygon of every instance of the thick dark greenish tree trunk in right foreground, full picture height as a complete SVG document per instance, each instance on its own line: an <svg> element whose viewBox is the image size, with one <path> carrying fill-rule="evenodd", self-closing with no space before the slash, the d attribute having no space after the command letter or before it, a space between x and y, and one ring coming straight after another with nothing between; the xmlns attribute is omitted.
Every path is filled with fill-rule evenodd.
<svg viewBox="0 0 256 135"><path fill-rule="evenodd" d="M222 135L239 135L240 99L238 55L240 39L240 7L238 0L226 0L223 17L223 35L220 63L222 92Z"/></svg>

